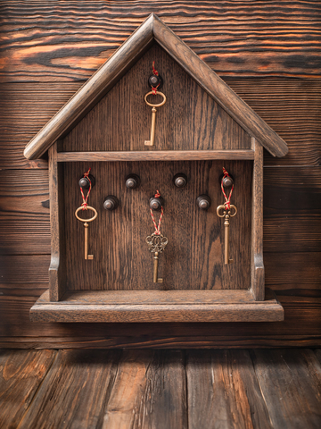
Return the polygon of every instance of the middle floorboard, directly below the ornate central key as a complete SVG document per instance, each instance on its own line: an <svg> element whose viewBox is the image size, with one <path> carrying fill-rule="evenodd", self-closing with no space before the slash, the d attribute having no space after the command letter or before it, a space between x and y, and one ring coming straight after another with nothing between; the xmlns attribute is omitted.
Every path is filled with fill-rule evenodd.
<svg viewBox="0 0 321 429"><path fill-rule="evenodd" d="M128 351L119 363L103 429L185 429L185 368L181 351Z"/></svg>

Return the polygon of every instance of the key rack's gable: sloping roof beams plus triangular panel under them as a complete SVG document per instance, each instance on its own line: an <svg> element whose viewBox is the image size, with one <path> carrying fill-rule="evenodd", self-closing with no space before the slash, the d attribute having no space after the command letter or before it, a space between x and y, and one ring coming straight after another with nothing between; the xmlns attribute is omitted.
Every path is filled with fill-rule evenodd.
<svg viewBox="0 0 321 429"><path fill-rule="evenodd" d="M157 43L138 59L151 45L151 40ZM266 147L271 155L286 155L286 143L267 122L246 105L166 24L151 14L62 110L29 141L24 156L28 159L39 158L55 140L66 136L68 132L71 139L67 139L63 145L69 147L67 150L75 150L72 144L75 133L78 136L77 146L87 147L82 150L89 150L89 147L92 150L108 150L109 147L112 150L146 149L140 144L136 133L138 131L139 137L144 135L146 114L150 109L139 95L144 94L143 77L147 79L151 72L150 64L155 58L161 65L161 74L165 78L164 89L170 97L166 105L161 105L162 114L157 115L161 116L161 120L158 120L161 123L158 125L154 149L247 148L250 135ZM117 83L124 73L125 76ZM102 97L103 100L97 105ZM158 103L159 100L156 101ZM103 124L100 117L103 118ZM82 125L88 130L88 124L90 126L93 123L94 129L87 132L85 141L82 141ZM202 130L203 123L206 123L205 132ZM98 136L96 129L100 130Z"/></svg>

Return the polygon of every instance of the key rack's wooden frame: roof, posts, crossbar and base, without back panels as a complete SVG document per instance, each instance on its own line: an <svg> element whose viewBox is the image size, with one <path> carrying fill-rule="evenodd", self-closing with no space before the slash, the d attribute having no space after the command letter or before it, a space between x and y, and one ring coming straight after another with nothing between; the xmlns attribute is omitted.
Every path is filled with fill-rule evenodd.
<svg viewBox="0 0 321 429"><path fill-rule="evenodd" d="M251 148L235 150L153 150L58 152L62 139L136 63L156 40L177 63L251 136ZM43 322L241 322L279 321L284 310L265 294L263 265L263 147L284 156L287 147L218 75L155 15L119 47L60 112L29 142L25 156L49 150L52 259L49 292L30 310ZM251 160L251 282L247 290L68 290L65 266L63 172L79 161Z"/></svg>

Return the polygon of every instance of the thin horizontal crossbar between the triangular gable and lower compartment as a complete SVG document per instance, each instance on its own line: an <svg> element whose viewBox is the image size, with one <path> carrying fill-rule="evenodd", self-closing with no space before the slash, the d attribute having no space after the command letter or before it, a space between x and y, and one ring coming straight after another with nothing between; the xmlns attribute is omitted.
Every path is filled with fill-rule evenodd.
<svg viewBox="0 0 321 429"><path fill-rule="evenodd" d="M59 163L78 161L197 161L252 160L254 151L240 150L149 150L119 152L59 152Z"/></svg>

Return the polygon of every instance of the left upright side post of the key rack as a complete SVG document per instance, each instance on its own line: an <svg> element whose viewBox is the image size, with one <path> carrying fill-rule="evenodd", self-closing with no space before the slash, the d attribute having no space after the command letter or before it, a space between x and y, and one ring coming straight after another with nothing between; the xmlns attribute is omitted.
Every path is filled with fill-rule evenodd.
<svg viewBox="0 0 321 429"><path fill-rule="evenodd" d="M57 142L49 149L49 201L51 230L51 261L49 267L49 297L59 301L66 287L64 245L63 165L57 163Z"/></svg>

